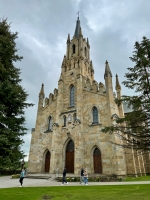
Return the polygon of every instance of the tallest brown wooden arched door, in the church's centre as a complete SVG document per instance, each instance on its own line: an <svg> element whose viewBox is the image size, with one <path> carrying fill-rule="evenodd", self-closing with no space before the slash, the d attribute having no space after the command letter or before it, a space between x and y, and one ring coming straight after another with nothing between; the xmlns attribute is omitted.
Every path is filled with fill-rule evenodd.
<svg viewBox="0 0 150 200"><path fill-rule="evenodd" d="M66 147L66 169L68 173L74 173L74 142L72 140Z"/></svg>

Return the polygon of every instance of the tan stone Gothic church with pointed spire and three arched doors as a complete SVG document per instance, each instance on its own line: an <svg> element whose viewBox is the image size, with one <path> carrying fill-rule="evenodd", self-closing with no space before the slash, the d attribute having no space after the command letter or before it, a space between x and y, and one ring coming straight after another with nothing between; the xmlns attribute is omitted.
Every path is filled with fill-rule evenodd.
<svg viewBox="0 0 150 200"><path fill-rule="evenodd" d="M65 48L65 47L64 47ZM79 17L72 39L68 35L66 54L61 65L58 89L45 98L44 85L39 93L35 128L32 129L29 173L62 172L80 174L141 175L150 173L150 156L116 146L116 134L105 134L105 126L124 116L122 105L114 102L112 72L106 61L104 83L94 79L88 38L82 35ZM116 75L116 94L121 86Z"/></svg>

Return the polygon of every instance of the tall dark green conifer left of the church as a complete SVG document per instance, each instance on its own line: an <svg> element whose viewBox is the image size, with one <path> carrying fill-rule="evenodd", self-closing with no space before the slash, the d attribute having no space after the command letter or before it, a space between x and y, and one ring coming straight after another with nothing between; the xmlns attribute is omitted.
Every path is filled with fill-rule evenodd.
<svg viewBox="0 0 150 200"><path fill-rule="evenodd" d="M20 147L26 134L24 109L28 94L20 85L20 69L15 62L23 57L17 54L15 39L7 19L0 20L0 169L15 169L25 155Z"/></svg>

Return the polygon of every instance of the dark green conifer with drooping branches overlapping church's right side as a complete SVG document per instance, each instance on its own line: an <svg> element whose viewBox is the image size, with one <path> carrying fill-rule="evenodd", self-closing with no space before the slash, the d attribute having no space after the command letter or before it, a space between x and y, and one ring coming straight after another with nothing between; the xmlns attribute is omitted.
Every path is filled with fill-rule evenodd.
<svg viewBox="0 0 150 200"><path fill-rule="evenodd" d="M150 150L150 40L143 37L141 43L136 42L130 59L135 63L129 67L125 74L123 84L133 89L134 96L122 96L116 99L116 103L125 102L132 107L132 112L124 118L116 120L116 124L105 127L102 131L119 134L125 148L133 148L141 151Z"/></svg>

